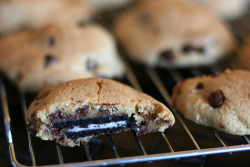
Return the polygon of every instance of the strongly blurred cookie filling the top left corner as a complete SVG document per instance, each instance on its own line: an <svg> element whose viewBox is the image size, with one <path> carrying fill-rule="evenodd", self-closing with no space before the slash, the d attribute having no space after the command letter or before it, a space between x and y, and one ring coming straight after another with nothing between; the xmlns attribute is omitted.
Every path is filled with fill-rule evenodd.
<svg viewBox="0 0 250 167"><path fill-rule="evenodd" d="M55 22L82 23L92 15L92 8L83 0L1 0L0 34L41 28Z"/></svg>

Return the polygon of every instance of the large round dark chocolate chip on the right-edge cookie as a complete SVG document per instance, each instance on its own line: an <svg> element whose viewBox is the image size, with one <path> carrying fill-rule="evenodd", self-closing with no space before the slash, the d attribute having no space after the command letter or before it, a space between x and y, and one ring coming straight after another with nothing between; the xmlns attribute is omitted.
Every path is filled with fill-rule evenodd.
<svg viewBox="0 0 250 167"><path fill-rule="evenodd" d="M217 107L220 107L224 103L225 97L222 91L217 90L210 94L208 101L213 108L217 108Z"/></svg>

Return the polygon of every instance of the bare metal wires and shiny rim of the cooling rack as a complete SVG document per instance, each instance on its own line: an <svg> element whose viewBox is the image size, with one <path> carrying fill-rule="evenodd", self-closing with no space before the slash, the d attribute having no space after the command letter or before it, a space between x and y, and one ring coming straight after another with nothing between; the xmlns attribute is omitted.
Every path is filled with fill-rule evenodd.
<svg viewBox="0 0 250 167"><path fill-rule="evenodd" d="M247 14L250 18L250 14ZM237 21L236 26L240 26L240 28L244 28L247 30L247 32L250 32L249 26L245 22ZM246 34L239 34L237 31L234 31L234 34L238 37L238 39L241 42L244 42L243 37L246 36ZM122 54L125 54L124 51L122 51ZM237 52L235 51L235 54ZM135 89L139 91L145 91L145 89L142 88L142 84L139 79L138 74L136 74L136 70L134 69L133 64L129 62L128 60L124 60L127 66L127 73L126 73L126 79L129 82L130 85L132 85ZM229 68L236 68L237 65L230 62L224 63L222 66L220 65L214 65L211 67L206 68L206 70L210 71L211 73L216 73L216 72L222 72L224 70L224 67L229 67ZM174 113L176 119L179 121L181 128L183 131L186 133L188 136L188 139L191 141L193 147L195 149L191 150L182 150L178 151L175 150L173 143L169 140L169 135L168 132L163 132L163 133L158 133L160 138L164 141L164 144L168 149L165 150L163 153L156 153L156 154L151 154L148 152L144 145L143 142L141 141L139 136L136 136L136 134L132 131L133 136L135 138L135 141L140 148L141 155L136 155L136 156L128 156L128 157L121 157L119 154L119 151L117 149L117 146L113 140L112 135L106 135L108 142L110 144L110 147L112 148L114 158L111 159L99 159L99 160L93 160L93 156L91 155L91 152L89 150L89 146L84 145L84 151L86 153L86 158L87 160L81 161L81 162L70 162L70 163L65 163L64 162L64 155L63 152L61 151L61 148L59 145L55 144L55 149L57 153L57 159L58 163L57 164L47 164L46 166L108 166L108 165L121 165L121 164L130 164L130 163L139 163L139 162L149 162L149 161L157 161L157 160L167 160L167 159L180 159L180 158L185 158L185 157L193 157L193 156L207 156L207 155L212 155L212 154L222 154L222 153L233 153L233 152L241 152L241 151L250 151L250 139L248 136L243 136L243 139L245 143L242 143L242 145L227 145L226 142L222 139L220 136L220 133L218 133L217 130L211 128L211 133L214 135L216 138L217 142L220 144L218 147L213 147L213 148L202 148L199 145L199 142L197 142L197 139L195 138L195 135L192 133L192 130L189 128L187 123L185 122L185 119L174 109L172 109L172 99L171 99L171 91L167 89L166 82L162 78L161 72L163 71L169 74L169 77L172 78L172 80L177 83L181 82L185 78L183 77L183 74L180 70L166 70L166 69L152 69L152 68L146 68L144 67L142 69L145 74L147 75L148 78L150 78L150 82L153 83L155 89L158 91L158 93L161 95L161 97L165 100L165 104L167 104L172 112ZM192 76L200 76L203 74L202 70L200 69L188 69L189 73ZM169 78L168 78L169 79ZM5 124L5 133L6 137L8 140L8 147L9 147L9 154L10 154L10 160L11 164L13 166L26 166L22 163L20 163L17 160L16 157L16 151L15 151L15 143L13 142L13 136L12 136L12 122L11 122L11 117L10 117L10 111L9 111L9 104L7 100L7 94L6 94L6 89L5 89L5 84L3 80L0 80L0 93L1 93L1 104L2 104L2 110L3 110L3 115L4 115L4 124ZM20 96L20 102L22 106L22 111L23 115L26 115L26 98L25 94L23 92L18 92ZM24 118L26 122L26 117ZM197 125L198 126L198 125ZM30 133L27 131L27 140L28 140L28 147L29 147L29 154L30 154L30 159L31 159L31 165L32 166L41 166L37 165L36 162L36 156L34 153L33 145L32 145L32 137Z"/></svg>

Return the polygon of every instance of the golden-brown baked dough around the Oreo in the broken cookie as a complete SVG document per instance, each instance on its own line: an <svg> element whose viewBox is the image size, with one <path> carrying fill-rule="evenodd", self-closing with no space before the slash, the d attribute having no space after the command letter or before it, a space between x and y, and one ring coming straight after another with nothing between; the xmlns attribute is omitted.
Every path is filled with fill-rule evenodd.
<svg viewBox="0 0 250 167"><path fill-rule="evenodd" d="M116 81L88 78L69 81L41 91L28 108L29 126L37 131L37 137L56 140L64 146L73 147L80 142L88 142L93 136L73 141L66 137L59 140L50 133L51 114L60 111L64 115L75 115L76 110L82 106L88 106L85 117L98 116L101 110L108 111L104 115L126 114L133 117L138 126L145 121L145 126L140 127L141 133L163 132L175 122L171 111L152 97Z"/></svg>

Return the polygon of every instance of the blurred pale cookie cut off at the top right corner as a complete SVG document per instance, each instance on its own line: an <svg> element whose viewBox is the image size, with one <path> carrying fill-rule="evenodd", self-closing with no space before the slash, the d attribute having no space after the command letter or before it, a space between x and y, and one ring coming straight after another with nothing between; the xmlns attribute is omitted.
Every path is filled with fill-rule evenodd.
<svg viewBox="0 0 250 167"><path fill-rule="evenodd" d="M248 9L249 0L191 0L209 9L224 20L234 20L241 17Z"/></svg>

